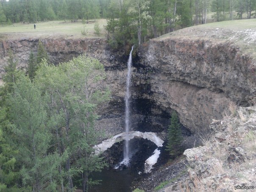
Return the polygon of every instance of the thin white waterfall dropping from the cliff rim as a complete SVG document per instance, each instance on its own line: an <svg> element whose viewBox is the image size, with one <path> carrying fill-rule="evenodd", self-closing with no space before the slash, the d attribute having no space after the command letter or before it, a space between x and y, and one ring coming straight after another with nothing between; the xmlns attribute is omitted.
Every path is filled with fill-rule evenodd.
<svg viewBox="0 0 256 192"><path fill-rule="evenodd" d="M133 51L133 46L131 47L131 52L128 59L128 72L126 78L126 91L125 91L125 147L124 147L124 159L122 161L123 164L129 164L129 131L130 131L130 86L131 86L131 53Z"/></svg>

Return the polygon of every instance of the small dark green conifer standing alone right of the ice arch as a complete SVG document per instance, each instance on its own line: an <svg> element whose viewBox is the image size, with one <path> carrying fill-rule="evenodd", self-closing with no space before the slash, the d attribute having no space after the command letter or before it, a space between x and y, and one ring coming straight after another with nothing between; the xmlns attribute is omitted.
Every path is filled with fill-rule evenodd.
<svg viewBox="0 0 256 192"><path fill-rule="evenodd" d="M173 111L171 116L171 125L168 128L166 145L166 150L169 151L172 157L176 157L181 153L182 140L181 124L178 119L178 114L176 111Z"/></svg>

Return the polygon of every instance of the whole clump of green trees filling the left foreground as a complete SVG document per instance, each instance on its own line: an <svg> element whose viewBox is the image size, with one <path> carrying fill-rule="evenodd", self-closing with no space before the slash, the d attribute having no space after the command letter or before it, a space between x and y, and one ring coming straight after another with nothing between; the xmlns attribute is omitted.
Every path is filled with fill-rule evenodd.
<svg viewBox="0 0 256 192"><path fill-rule="evenodd" d="M103 89L103 64L84 55L48 64L39 42L28 75L9 53L0 87L0 191L88 191L92 171L106 164L92 155L102 134L94 128ZM101 89L99 89L99 86ZM76 184L76 185L77 185Z"/></svg>

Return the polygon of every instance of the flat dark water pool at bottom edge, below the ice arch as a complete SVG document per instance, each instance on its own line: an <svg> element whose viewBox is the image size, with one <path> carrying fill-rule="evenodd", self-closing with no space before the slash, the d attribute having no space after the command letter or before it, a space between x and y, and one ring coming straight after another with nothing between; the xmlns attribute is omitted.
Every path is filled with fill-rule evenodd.
<svg viewBox="0 0 256 192"><path fill-rule="evenodd" d="M93 173L93 180L102 180L100 185L92 186L89 192L131 192L131 182L134 176L129 169L122 171L102 170L100 173Z"/></svg>

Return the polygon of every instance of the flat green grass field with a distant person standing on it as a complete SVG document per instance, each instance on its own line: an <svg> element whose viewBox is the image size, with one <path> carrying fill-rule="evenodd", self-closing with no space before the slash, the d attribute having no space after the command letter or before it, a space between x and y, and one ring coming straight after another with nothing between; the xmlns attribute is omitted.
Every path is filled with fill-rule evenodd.
<svg viewBox="0 0 256 192"><path fill-rule="evenodd" d="M100 36L95 34L94 25L95 22L100 25ZM20 38L103 38L105 37L104 26L106 26L106 19L89 20L89 23L85 24L85 31L88 31L86 35L83 35L83 23L81 20L76 22L69 21L48 21L38 22L36 29L33 27L33 23L23 24L14 23L12 25L0 26L0 38L7 39L20 39Z"/></svg>

